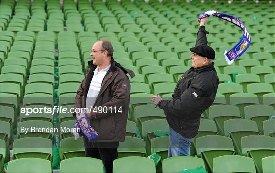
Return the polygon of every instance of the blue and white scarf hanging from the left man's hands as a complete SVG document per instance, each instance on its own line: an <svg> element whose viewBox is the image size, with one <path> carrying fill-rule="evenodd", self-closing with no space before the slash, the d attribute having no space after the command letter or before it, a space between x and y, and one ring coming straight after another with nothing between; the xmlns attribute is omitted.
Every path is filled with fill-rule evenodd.
<svg viewBox="0 0 275 173"><path fill-rule="evenodd" d="M80 134L77 132L74 132L74 139L77 140L79 136L85 135L88 140L93 140L98 137L97 132L90 126L90 123L88 121L88 118L86 114L84 113L78 113L76 114L77 120L74 123L73 128L80 129ZM79 131L79 130L76 130Z"/></svg>

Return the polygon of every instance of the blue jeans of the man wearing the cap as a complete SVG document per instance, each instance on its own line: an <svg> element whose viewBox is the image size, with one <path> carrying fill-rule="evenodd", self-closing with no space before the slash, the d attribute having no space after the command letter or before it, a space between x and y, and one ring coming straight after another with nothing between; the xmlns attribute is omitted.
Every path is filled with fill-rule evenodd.
<svg viewBox="0 0 275 173"><path fill-rule="evenodd" d="M190 156L190 146L193 138L185 138L169 127L169 148L168 157Z"/></svg>

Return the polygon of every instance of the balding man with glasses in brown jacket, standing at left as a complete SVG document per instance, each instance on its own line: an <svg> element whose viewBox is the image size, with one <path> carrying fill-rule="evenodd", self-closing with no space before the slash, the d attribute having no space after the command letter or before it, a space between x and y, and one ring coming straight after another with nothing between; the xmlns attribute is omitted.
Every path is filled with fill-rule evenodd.
<svg viewBox="0 0 275 173"><path fill-rule="evenodd" d="M88 72L77 90L76 108L88 108L87 117L98 138L84 136L85 155L101 159L106 172L112 172L118 157L119 141L124 141L130 100L130 82L123 68L113 59L113 47L107 40L97 41L90 54ZM91 169L93 169L91 167Z"/></svg>

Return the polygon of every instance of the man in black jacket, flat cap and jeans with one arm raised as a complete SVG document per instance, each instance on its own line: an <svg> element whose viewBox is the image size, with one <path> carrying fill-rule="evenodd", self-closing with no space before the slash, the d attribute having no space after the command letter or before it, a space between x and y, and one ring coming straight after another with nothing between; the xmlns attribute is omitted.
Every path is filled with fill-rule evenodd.
<svg viewBox="0 0 275 173"><path fill-rule="evenodd" d="M170 126L168 157L189 156L190 145L197 135L201 114L216 97L219 79L214 68L215 51L207 46L205 23L201 19L196 46L190 48L193 64L179 79L172 100L153 96L156 106L163 109Z"/></svg>

